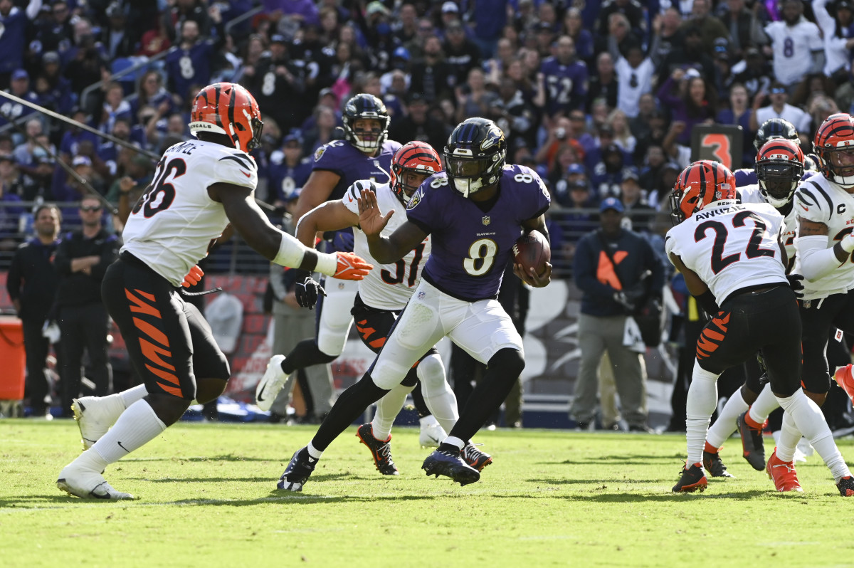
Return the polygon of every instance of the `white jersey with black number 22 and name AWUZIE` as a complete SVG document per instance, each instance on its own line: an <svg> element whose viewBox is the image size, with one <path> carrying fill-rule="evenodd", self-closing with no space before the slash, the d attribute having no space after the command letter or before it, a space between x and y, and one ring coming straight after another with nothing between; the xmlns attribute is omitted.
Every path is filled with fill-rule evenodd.
<svg viewBox="0 0 854 568"><path fill-rule="evenodd" d="M783 216L768 203L721 203L711 203L667 231L668 258L678 255L697 272L718 305L742 288L786 283L777 244Z"/></svg>

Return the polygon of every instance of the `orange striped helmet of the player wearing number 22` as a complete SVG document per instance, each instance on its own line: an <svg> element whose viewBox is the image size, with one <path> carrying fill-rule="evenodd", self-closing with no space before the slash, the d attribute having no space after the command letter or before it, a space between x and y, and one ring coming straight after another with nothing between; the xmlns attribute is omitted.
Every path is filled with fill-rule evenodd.
<svg viewBox="0 0 854 568"><path fill-rule="evenodd" d="M722 163L695 161L682 170L670 194L670 217L679 225L711 202L735 202L735 176Z"/></svg>

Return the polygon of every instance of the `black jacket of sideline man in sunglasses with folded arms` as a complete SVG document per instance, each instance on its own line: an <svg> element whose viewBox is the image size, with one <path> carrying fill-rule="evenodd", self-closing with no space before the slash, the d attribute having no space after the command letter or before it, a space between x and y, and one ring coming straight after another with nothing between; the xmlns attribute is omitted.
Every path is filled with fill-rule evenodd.
<svg viewBox="0 0 854 568"><path fill-rule="evenodd" d="M56 304L85 306L101 302L101 281L107 266L119 258L121 239L103 229L94 238L85 238L80 231L67 233L56 249L54 266L61 279L56 294ZM92 266L91 274L71 272L71 261L83 256L100 256L101 261Z"/></svg>

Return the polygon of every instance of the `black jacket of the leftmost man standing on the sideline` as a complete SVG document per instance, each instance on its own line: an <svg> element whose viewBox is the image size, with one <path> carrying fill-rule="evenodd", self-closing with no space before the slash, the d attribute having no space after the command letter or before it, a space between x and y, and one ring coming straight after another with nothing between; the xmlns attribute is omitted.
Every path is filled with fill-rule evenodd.
<svg viewBox="0 0 854 568"><path fill-rule="evenodd" d="M38 238L23 243L15 250L6 290L12 300L20 301L20 319L44 321L56 296L56 271L53 256L59 241L42 244Z"/></svg>

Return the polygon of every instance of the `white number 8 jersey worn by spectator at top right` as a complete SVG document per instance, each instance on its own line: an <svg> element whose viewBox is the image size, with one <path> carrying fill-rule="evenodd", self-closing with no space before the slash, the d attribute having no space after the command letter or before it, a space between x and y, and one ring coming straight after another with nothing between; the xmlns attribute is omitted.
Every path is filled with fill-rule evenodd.
<svg viewBox="0 0 854 568"><path fill-rule="evenodd" d="M783 85L804 79L812 67L812 52L824 48L822 32L803 16L794 26L783 20L772 21L765 26L765 33L774 48L774 76Z"/></svg>

